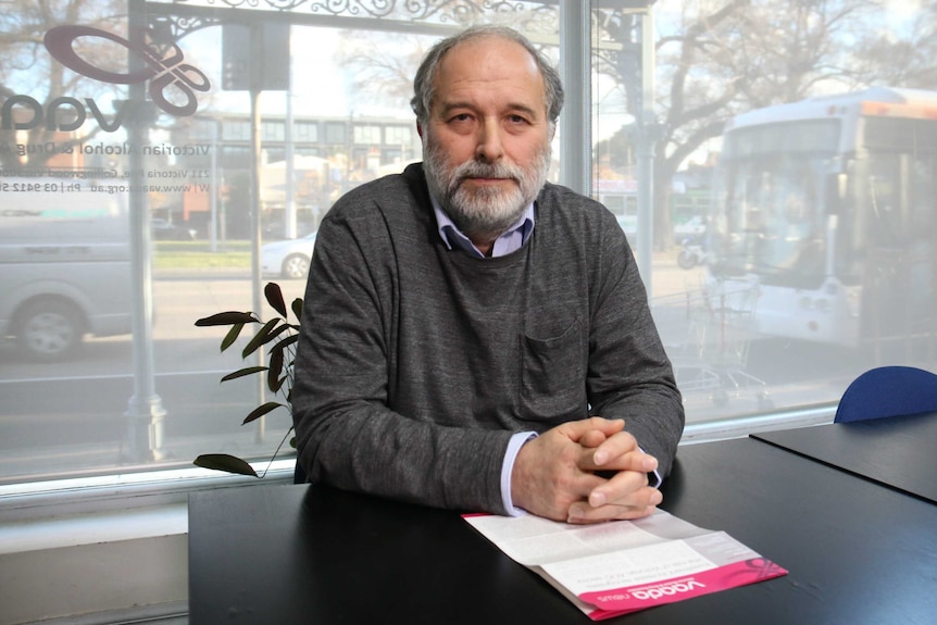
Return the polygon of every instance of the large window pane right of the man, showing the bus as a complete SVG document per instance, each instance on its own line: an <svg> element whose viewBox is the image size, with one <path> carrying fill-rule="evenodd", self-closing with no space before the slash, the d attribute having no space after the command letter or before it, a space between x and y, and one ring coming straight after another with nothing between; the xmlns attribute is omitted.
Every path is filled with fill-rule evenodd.
<svg viewBox="0 0 937 625"><path fill-rule="evenodd" d="M641 272L688 423L833 405L879 364L933 371L937 93L817 82L805 33L769 26L790 23L790 4L650 4L592 3L592 189L639 264L653 247ZM820 5L803 28L836 41L877 23L915 48L910 24L847 4L839 33L821 32L836 16Z"/></svg>

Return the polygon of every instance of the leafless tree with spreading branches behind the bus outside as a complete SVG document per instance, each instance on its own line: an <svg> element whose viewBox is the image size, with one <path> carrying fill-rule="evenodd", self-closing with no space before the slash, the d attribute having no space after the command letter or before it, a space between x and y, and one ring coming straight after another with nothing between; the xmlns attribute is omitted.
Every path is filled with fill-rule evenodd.
<svg viewBox="0 0 937 625"><path fill-rule="evenodd" d="M678 4L672 10L671 4ZM861 85L871 75L851 66L849 42L863 37L882 7L877 0L700 0L667 3L655 41L660 83L654 161L654 247L672 245L670 189L677 170L725 122L744 111ZM637 84L637 22L605 16L622 43L602 53L600 71ZM634 90L628 108L638 110Z"/></svg>

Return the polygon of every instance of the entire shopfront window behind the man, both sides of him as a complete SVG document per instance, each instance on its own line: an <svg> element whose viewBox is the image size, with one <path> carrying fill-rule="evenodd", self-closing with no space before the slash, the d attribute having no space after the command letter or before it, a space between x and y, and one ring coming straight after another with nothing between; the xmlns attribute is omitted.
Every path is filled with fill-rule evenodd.
<svg viewBox="0 0 937 625"><path fill-rule="evenodd" d="M876 297L911 298L915 311L935 308L937 130L930 120L937 97L870 89L862 101L888 104L907 118L857 120L851 126L833 123L828 104L823 116L785 113L786 125L758 122L774 113L742 95L715 107L742 62L760 80L751 93L796 103L780 92L764 95L783 80L759 72L801 67L799 58L778 65L734 55L763 48L794 58L803 51L794 38L780 49L774 38L760 40L770 28L741 27L751 20L773 23L788 11L785 3L740 3L713 23L717 30L707 30L690 27L708 23L705 8L697 4L659 0L646 13L591 0L582 27L592 28L585 37L592 47L562 54L560 30L579 27L571 26L577 23L570 15L582 2L383 2L387 10L373 13L358 3L320 2L315 15L308 5L283 8L272 0L228 4L127 4L132 13L142 12L135 20L159 24L185 59L191 82L162 90L146 80L124 85L85 75L87 66L71 68L67 59L35 47L67 20L64 13L46 23L13 3L12 14L0 17L0 40L9 41L0 46L7 88L0 90L0 484L188 466L197 454L215 451L258 459L273 453L288 414L277 410L241 426L268 398L251 378L218 383L245 363L237 350L218 353L221 329L195 322L255 309L268 280L280 284L287 299L302 296L301 279L278 273L254 279L251 237L259 232L266 243L290 232L314 232L336 198L420 158L409 104L413 60L440 33L463 24L470 4L472 20L514 25L555 62L577 54L591 61L591 75L566 72L569 116L558 128L550 179L578 189L574 178L588 170L582 190L620 217L672 350L691 427L769 410L829 407L849 379L874 363L934 368L933 316L922 313L900 332L885 332L867 315L877 310ZM78 24L108 37L136 37L128 35L126 7L120 9L84 0ZM811 18L798 23L819 28L834 17L825 7L809 10ZM289 17L293 59L301 62L291 68L288 95L275 86L259 98L262 146L255 155L250 95L223 88L233 60L224 55L218 20L253 21L265 11L280 22ZM201 17L192 20L195 14ZM877 22L837 23L824 36L859 33L867 23ZM642 33L660 43L654 64L641 55ZM926 39L913 45L910 29L891 35L896 46L933 57ZM713 40L720 46L710 46ZM836 42L815 48L844 49ZM87 59L101 67L123 66L126 50L142 45L134 39L115 51L112 43L83 37L92 51ZM684 70L683 46L724 55L700 52L698 64L679 76L686 98L672 100L671 85ZM404 66L370 63L377 53ZM838 61L817 62L815 70ZM266 62L286 64L289 58ZM653 93L641 92L642 63L655 67ZM865 65L863 84L888 75L885 68L874 75L871 61ZM361 75L368 79L357 79ZM822 89L801 85L803 92L857 90L836 76L815 80ZM45 93L68 100L52 102ZM836 110L846 115L848 105ZM862 114L874 110L869 104ZM141 118L148 123L137 129L130 122ZM582 132L570 129L576 123ZM725 123L725 134L708 130ZM750 127L733 138L740 124ZM251 205L254 166L265 198L259 224ZM298 207L292 213L288 200ZM40 201L49 208L37 211ZM150 229L151 215L164 220L159 233ZM677 265L676 228L690 223L702 228L705 248L720 262ZM873 275L876 266L890 267L916 290L885 289L882 276ZM713 322L703 317L707 293L728 284L757 287L759 295L732 346L694 332L694 324ZM900 310L890 303L886 312Z"/></svg>

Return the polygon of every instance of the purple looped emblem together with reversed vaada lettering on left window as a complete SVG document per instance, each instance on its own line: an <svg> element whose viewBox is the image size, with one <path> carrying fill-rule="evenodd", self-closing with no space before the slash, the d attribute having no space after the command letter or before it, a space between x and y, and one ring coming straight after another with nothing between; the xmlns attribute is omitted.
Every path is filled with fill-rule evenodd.
<svg viewBox="0 0 937 625"><path fill-rule="evenodd" d="M193 115L199 107L196 93L209 91L211 82L201 70L185 62L185 54L176 43L157 46L143 42L152 33L151 29L145 29L141 32L141 41L133 42L100 28L70 24L50 28L42 42L57 61L82 76L111 85L135 85L149 80L150 98L157 107L176 117ZM134 54L142 66L133 72L118 73L93 65L75 51L75 42L83 38L117 43ZM78 129L90 115L102 130L113 133L123 126L132 112L141 114L145 103L115 100L113 105L115 113L109 120L92 98L85 98L83 102L73 97L59 97L43 110L35 98L17 93L3 102L0 127L30 130L45 124L49 130L72 132ZM32 117L14 122L14 107L27 109ZM60 112L61 109L65 111Z"/></svg>

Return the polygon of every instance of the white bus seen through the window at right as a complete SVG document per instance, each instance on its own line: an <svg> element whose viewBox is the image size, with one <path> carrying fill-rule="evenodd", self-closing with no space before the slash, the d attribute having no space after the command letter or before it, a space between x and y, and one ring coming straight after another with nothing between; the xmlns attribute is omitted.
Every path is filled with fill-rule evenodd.
<svg viewBox="0 0 937 625"><path fill-rule="evenodd" d="M882 99L900 112L866 115ZM763 383L782 408L835 402L865 368L934 366L935 103L929 92L844 92L729 125L702 301L751 297L719 320L721 347L738 355L713 368L729 386L714 398L728 403L719 393L735 393L732 375Z"/></svg>

